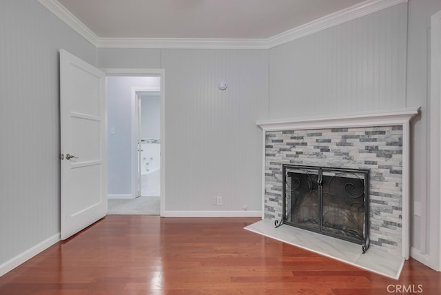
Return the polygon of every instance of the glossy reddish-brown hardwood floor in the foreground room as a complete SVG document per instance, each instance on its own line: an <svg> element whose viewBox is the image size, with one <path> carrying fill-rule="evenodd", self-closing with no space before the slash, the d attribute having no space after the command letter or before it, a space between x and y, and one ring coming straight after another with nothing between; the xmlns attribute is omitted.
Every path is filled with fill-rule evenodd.
<svg viewBox="0 0 441 295"><path fill-rule="evenodd" d="M440 294L410 259L398 281L254 234L258 218L110 215L0 277L0 294Z"/></svg>

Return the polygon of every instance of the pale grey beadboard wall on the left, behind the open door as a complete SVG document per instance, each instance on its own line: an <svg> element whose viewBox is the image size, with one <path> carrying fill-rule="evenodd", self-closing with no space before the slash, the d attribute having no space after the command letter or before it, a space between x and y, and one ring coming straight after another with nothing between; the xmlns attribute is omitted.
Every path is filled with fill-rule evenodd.
<svg viewBox="0 0 441 295"><path fill-rule="evenodd" d="M94 46L37 1L1 1L0 274L59 237L60 48L96 65Z"/></svg>

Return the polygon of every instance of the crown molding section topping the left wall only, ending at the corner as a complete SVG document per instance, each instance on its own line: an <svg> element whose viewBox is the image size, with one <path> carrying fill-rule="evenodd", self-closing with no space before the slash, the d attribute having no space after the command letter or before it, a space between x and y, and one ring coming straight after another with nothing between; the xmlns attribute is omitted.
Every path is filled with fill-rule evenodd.
<svg viewBox="0 0 441 295"><path fill-rule="evenodd" d="M62 6L59 1L37 0L37 2L48 9L50 12L55 14L55 16L61 19L61 21L63 21L66 25L70 26L72 30L80 34L81 37L83 37L96 47L99 37L96 36L96 34L92 32L90 28L86 27L84 23L77 19L74 14L70 13L69 10Z"/></svg>

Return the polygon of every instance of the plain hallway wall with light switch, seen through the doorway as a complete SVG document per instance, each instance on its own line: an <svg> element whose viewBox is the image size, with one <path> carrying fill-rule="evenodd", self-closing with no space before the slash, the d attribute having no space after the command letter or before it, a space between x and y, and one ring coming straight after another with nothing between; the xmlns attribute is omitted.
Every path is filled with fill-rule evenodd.
<svg viewBox="0 0 441 295"><path fill-rule="evenodd" d="M159 88L159 77L107 77L107 191L114 196L134 195L132 88Z"/></svg>

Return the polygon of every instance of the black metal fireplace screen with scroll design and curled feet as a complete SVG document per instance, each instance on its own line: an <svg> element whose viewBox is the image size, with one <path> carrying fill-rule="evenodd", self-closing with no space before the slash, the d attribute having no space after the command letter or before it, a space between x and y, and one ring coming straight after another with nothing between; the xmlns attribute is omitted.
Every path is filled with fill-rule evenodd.
<svg viewBox="0 0 441 295"><path fill-rule="evenodd" d="M369 248L369 170L283 165L287 224Z"/></svg>

